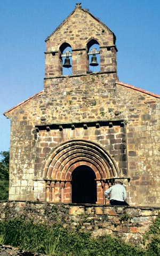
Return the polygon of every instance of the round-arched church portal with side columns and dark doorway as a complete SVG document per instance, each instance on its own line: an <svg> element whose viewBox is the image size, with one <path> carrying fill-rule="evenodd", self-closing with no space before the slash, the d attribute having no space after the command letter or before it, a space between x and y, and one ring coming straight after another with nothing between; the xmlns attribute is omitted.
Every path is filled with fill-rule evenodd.
<svg viewBox="0 0 160 256"><path fill-rule="evenodd" d="M81 203L82 201L82 203L103 204L105 181L118 177L117 166L113 158L103 147L87 140L71 140L61 143L47 157L43 170L47 202ZM91 190L95 188L93 198L87 189L84 197L87 196L90 199L80 198L79 191L77 197L74 195L77 192L74 182L78 179L81 179L81 183ZM92 186L89 179L93 181Z"/></svg>

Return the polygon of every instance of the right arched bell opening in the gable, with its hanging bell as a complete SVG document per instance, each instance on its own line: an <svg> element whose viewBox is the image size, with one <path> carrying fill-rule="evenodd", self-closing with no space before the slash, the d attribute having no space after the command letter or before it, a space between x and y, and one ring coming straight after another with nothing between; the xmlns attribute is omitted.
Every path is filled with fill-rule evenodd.
<svg viewBox="0 0 160 256"><path fill-rule="evenodd" d="M87 43L87 58L89 62L89 72L100 71L100 46L97 40L92 39Z"/></svg>

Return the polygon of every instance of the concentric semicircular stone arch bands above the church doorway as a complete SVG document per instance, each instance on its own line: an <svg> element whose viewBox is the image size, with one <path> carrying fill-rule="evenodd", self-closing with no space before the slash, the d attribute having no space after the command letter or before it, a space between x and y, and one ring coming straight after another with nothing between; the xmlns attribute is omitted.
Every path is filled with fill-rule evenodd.
<svg viewBox="0 0 160 256"><path fill-rule="evenodd" d="M69 180L79 165L90 166L100 180L118 177L116 164L104 148L87 140L70 140L54 148L47 157L43 178Z"/></svg>

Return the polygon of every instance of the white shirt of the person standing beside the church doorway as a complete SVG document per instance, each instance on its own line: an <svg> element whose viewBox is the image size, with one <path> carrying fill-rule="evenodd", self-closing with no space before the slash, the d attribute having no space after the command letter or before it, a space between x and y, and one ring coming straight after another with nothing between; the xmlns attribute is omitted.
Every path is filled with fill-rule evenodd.
<svg viewBox="0 0 160 256"><path fill-rule="evenodd" d="M126 200L126 190L123 185L116 184L105 191L105 197L109 198L110 200L116 201L125 201Z"/></svg>

